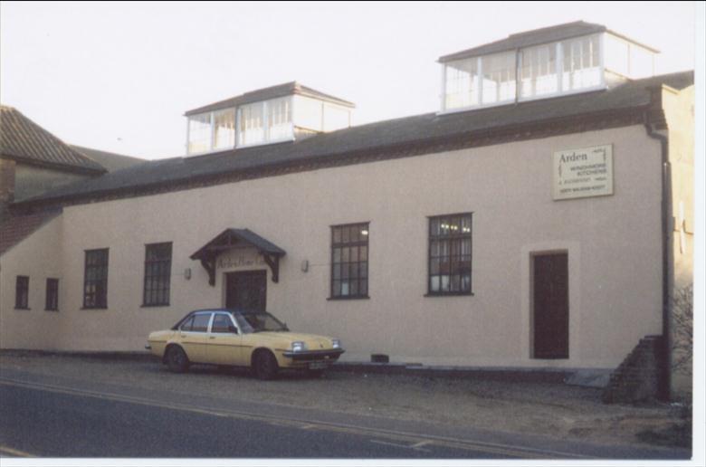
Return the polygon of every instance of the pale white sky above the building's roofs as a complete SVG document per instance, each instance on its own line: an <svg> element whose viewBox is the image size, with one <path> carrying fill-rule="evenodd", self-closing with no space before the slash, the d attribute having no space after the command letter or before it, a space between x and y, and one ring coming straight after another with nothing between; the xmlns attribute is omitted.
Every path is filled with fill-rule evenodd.
<svg viewBox="0 0 706 467"><path fill-rule="evenodd" d="M296 80L355 102L357 124L425 113L439 56L577 20L693 69L692 2L2 2L0 100L72 144L180 156L183 113L215 100Z"/></svg>

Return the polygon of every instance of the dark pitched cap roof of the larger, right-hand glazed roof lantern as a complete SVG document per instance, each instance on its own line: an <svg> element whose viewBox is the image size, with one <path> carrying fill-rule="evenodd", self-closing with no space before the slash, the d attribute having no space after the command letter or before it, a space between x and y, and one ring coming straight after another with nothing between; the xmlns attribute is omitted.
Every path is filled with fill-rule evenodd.
<svg viewBox="0 0 706 467"><path fill-rule="evenodd" d="M524 33L510 34L507 38L501 39L500 41L495 41L492 43L485 43L472 49L466 49L461 52L454 52L448 55L444 55L439 58L439 62L450 62L453 60L460 60L464 58L478 57L480 55L487 55L489 53L496 52L507 52L515 49L520 49L522 47L530 47L532 45L539 45L542 43L553 43L556 41L563 41L566 39L571 39L573 37L580 37L582 35L588 35L593 33L604 33L609 31L603 24L593 24L586 23L583 21L576 21L574 23L558 24L556 26L544 27L541 29L535 29L532 31L527 31ZM619 35L636 43L632 39L628 39L625 36L609 31L615 35ZM640 44L643 47L653 51L658 52L652 47Z"/></svg>

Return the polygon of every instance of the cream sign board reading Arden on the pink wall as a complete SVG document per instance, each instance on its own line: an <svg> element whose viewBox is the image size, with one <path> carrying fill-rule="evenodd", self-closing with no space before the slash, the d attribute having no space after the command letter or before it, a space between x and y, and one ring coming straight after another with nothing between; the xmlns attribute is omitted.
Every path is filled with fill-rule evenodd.
<svg viewBox="0 0 706 467"><path fill-rule="evenodd" d="M555 200L613 195L613 145L554 153Z"/></svg>

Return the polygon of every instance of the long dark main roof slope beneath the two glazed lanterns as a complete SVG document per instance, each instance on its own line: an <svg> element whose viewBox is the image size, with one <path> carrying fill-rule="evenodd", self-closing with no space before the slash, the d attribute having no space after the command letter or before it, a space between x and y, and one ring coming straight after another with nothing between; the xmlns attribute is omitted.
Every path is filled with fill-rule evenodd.
<svg viewBox="0 0 706 467"><path fill-rule="evenodd" d="M438 115L426 113L339 129L330 133L252 148L238 148L196 157L174 157L146 162L98 178L62 186L15 205L36 201L61 202L102 194L133 194L138 189L179 184L224 174L266 170L311 160L346 157L361 151L384 153L398 145L425 145L428 141L475 138L476 135L521 127L547 125L582 115L603 115L616 110L642 109L650 104L648 88L667 84L683 89L693 84L693 71L644 80L627 81L613 89L578 93L554 99ZM429 151L433 152L433 151Z"/></svg>

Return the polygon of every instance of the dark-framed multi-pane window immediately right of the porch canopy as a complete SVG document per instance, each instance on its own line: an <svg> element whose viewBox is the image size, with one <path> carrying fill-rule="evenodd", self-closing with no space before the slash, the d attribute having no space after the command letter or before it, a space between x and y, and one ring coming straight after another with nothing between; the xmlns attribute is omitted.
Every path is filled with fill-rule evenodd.
<svg viewBox="0 0 706 467"><path fill-rule="evenodd" d="M331 298L367 298L369 224L331 227Z"/></svg>

